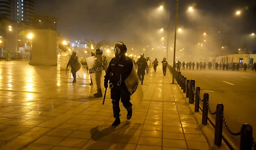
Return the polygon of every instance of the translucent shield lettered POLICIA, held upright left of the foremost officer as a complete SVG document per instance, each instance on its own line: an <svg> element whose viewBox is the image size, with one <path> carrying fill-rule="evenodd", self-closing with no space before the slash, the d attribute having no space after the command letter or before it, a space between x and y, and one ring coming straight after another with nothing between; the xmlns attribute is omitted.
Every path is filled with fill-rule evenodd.
<svg viewBox="0 0 256 150"><path fill-rule="evenodd" d="M101 55L86 58L93 89L104 88L104 76L106 75Z"/></svg>

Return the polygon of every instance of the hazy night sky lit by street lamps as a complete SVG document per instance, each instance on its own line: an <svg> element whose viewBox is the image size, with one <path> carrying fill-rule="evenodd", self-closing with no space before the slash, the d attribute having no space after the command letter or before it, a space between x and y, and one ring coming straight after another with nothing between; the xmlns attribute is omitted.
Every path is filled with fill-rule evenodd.
<svg viewBox="0 0 256 150"><path fill-rule="evenodd" d="M187 9L193 3L196 6L189 13ZM161 5L162 11L158 9ZM162 43L161 37L167 37L168 10L169 41L174 39L175 5L176 0L36 0L35 14L58 18L58 32L70 41L92 38L158 45ZM239 16L237 10L241 11ZM256 32L255 16L256 0L179 0L177 27L183 28L184 34L177 35L177 44L193 45L202 40L200 34L204 32L219 39L216 36L221 31L219 45L226 44L231 49L241 47L247 35ZM165 33L159 34L160 28Z"/></svg>

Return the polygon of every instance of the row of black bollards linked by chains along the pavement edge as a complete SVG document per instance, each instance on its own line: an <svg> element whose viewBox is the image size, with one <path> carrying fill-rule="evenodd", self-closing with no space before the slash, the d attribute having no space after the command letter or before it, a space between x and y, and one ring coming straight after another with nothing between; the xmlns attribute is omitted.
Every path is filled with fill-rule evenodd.
<svg viewBox="0 0 256 150"><path fill-rule="evenodd" d="M195 102L195 112L199 111L199 103L203 102L202 108L202 124L207 125L208 121L208 112L212 115L216 115L215 119L215 137L214 144L221 145L222 142L222 128L223 123L227 128L227 131L233 136L240 136L240 150L256 150L256 143L253 141L253 127L248 124L243 124L241 130L238 133L233 132L227 125L226 119L224 117L224 105L218 104L216 110L213 112L209 106L209 94L204 93L204 98L200 97L200 87L195 89L195 80L191 79L190 81L186 77L182 76L180 72L177 72L173 69L172 66L168 65L169 70L172 75L175 77L177 83L180 85L183 93L186 93L186 97L189 98L189 103L193 104Z"/></svg>

